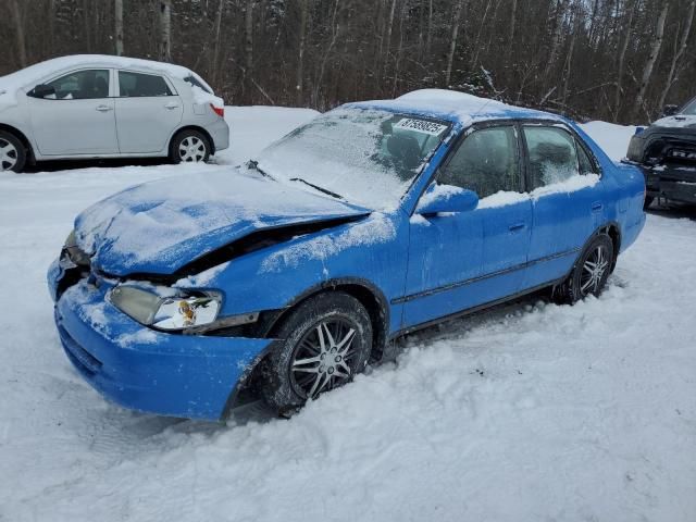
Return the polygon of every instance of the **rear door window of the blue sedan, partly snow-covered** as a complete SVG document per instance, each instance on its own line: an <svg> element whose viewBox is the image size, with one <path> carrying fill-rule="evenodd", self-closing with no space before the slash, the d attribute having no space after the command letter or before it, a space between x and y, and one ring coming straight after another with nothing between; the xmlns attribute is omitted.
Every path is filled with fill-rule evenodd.
<svg viewBox="0 0 696 522"><path fill-rule="evenodd" d="M568 130L551 126L525 126L524 138L530 161L530 190L581 174L575 139ZM587 162L592 164L586 154L584 162L583 171L586 171Z"/></svg>

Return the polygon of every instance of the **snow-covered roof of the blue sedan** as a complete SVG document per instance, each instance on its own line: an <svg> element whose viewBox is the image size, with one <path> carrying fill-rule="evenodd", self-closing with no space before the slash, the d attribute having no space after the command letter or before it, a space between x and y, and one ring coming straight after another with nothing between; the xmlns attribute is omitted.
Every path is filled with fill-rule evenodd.
<svg viewBox="0 0 696 522"><path fill-rule="evenodd" d="M390 112L446 120L462 126L469 126L480 121L510 119L568 122L558 114L509 105L501 101L446 89L414 90L393 100L362 101L348 103L346 107L384 109Z"/></svg>

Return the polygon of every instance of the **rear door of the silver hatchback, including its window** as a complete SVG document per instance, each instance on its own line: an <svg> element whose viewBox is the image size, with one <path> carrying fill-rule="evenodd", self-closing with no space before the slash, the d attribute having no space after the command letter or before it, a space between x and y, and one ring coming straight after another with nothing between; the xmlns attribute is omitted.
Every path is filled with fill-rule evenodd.
<svg viewBox="0 0 696 522"><path fill-rule="evenodd" d="M174 86L161 75L117 72L116 129L122 154L165 151L184 114Z"/></svg>

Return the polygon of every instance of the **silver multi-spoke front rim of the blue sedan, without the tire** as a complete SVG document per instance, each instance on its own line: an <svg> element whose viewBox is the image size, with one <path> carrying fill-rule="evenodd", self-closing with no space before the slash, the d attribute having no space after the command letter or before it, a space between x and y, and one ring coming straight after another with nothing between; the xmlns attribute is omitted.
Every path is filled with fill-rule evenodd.
<svg viewBox="0 0 696 522"><path fill-rule="evenodd" d="M304 398L340 386L353 374L357 325L345 319L327 319L307 332L293 356L293 387Z"/></svg>

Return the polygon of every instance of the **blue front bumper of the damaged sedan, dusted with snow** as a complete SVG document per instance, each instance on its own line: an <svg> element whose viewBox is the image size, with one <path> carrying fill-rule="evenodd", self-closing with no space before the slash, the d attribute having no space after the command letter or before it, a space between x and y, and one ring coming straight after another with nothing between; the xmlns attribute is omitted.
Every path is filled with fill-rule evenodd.
<svg viewBox="0 0 696 522"><path fill-rule="evenodd" d="M60 266L51 265L49 287ZM144 327L105 298L109 286L83 279L55 303L63 348L104 397L134 410L219 420L272 339L166 334Z"/></svg>

